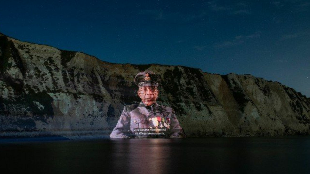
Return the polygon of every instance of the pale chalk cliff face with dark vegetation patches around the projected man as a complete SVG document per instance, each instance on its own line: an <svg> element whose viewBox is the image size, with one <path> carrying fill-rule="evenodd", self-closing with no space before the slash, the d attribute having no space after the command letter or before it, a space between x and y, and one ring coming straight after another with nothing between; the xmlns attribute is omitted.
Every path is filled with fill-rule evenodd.
<svg viewBox="0 0 310 174"><path fill-rule="evenodd" d="M309 134L310 99L278 82L200 69L103 62L0 34L0 136L108 136L139 102L135 75L162 78L187 137Z"/></svg>

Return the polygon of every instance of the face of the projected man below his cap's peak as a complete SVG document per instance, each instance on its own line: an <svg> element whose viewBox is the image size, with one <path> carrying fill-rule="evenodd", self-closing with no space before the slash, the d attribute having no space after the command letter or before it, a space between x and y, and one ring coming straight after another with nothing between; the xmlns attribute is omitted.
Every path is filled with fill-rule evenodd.
<svg viewBox="0 0 310 174"><path fill-rule="evenodd" d="M158 89L156 86L142 86L139 87L138 95L146 106L151 106L158 97Z"/></svg>

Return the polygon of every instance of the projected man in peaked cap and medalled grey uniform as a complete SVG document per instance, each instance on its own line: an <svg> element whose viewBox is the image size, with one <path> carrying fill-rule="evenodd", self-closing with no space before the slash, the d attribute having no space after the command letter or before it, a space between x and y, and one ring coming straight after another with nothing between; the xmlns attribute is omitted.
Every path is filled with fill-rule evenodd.
<svg viewBox="0 0 310 174"><path fill-rule="evenodd" d="M139 86L139 104L124 106L111 138L185 137L175 111L156 103L160 78L151 71L139 72L135 84Z"/></svg>

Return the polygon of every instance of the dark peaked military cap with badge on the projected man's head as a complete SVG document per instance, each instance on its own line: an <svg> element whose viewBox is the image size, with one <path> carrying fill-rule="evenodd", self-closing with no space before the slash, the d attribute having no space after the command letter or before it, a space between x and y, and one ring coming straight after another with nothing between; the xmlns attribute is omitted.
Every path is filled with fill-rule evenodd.
<svg viewBox="0 0 310 174"><path fill-rule="evenodd" d="M139 72L135 76L135 84L140 86L158 86L160 84L160 78L152 71Z"/></svg>

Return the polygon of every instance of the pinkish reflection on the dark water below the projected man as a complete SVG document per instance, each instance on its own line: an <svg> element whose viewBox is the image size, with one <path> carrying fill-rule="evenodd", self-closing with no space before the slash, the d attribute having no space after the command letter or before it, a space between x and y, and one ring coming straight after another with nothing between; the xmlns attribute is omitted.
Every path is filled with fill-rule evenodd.
<svg viewBox="0 0 310 174"><path fill-rule="evenodd" d="M113 171L128 173L168 173L170 139L112 140Z"/></svg>

